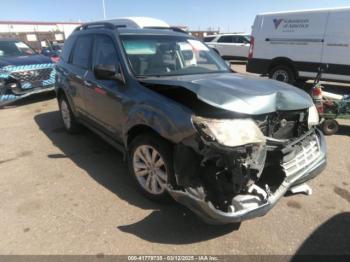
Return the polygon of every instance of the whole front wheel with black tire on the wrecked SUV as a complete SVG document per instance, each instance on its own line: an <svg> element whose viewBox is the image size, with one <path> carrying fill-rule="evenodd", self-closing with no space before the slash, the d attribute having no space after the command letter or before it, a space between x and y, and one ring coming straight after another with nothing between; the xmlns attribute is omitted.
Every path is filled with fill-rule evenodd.
<svg viewBox="0 0 350 262"><path fill-rule="evenodd" d="M174 177L170 143L153 134L140 135L129 146L128 164L141 193L158 202L170 200L166 190Z"/></svg>

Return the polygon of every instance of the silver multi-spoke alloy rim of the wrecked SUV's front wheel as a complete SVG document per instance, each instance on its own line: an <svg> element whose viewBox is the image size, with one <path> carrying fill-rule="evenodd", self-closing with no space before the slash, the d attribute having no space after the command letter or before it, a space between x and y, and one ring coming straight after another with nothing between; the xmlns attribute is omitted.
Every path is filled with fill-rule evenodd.
<svg viewBox="0 0 350 262"><path fill-rule="evenodd" d="M167 170L162 156L154 147L142 145L136 148L133 169L138 182L147 192L154 195L164 192Z"/></svg>

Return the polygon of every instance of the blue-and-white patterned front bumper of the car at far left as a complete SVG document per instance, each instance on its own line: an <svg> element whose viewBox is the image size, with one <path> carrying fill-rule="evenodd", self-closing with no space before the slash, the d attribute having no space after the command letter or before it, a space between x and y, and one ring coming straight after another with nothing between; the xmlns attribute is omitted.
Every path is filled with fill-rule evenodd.
<svg viewBox="0 0 350 262"><path fill-rule="evenodd" d="M32 94L52 91L56 71L53 64L5 66L0 69L0 106Z"/></svg>

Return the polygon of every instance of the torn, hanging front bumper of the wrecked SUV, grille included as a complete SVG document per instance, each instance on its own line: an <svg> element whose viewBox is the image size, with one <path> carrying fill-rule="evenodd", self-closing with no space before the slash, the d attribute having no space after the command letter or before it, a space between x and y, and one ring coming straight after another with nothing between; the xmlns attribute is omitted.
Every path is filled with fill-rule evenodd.
<svg viewBox="0 0 350 262"><path fill-rule="evenodd" d="M191 188L174 189L169 186L170 195L179 203L187 206L209 224L237 223L244 220L261 217L267 214L287 191L300 185L318 174L326 167L326 143L323 134L315 130L302 138L285 145L284 152L298 146L298 153L293 153L281 163L284 177L278 186L272 188L268 183L264 186L250 185L244 193L235 196L228 212L214 207L198 191Z"/></svg>

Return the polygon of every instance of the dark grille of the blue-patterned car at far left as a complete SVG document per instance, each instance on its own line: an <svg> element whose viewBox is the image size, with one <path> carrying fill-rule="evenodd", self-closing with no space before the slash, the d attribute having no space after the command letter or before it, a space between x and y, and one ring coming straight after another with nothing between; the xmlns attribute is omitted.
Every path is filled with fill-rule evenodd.
<svg viewBox="0 0 350 262"><path fill-rule="evenodd" d="M11 75L21 84L31 83L33 86L41 86L42 81L51 77L52 68L13 72Z"/></svg>

